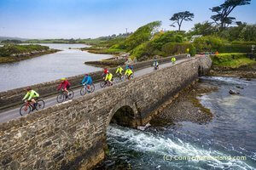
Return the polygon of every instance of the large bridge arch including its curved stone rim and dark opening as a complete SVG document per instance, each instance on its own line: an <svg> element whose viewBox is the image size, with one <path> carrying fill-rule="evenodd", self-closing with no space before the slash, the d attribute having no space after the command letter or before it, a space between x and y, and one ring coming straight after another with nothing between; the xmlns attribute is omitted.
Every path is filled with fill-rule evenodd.
<svg viewBox="0 0 256 170"><path fill-rule="evenodd" d="M111 122L124 127L136 127L137 117L138 111L135 102L131 99L122 99L109 112L107 127Z"/></svg>

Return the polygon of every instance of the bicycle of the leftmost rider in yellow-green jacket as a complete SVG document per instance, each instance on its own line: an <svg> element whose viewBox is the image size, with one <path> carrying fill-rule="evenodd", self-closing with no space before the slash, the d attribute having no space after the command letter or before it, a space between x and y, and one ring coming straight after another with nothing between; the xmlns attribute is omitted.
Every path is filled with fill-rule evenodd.
<svg viewBox="0 0 256 170"><path fill-rule="evenodd" d="M32 111L32 109L33 109L32 102L26 100L26 104L23 104L20 106L20 116L29 114ZM35 109L37 111L44 109L44 100L43 99L38 99Z"/></svg>

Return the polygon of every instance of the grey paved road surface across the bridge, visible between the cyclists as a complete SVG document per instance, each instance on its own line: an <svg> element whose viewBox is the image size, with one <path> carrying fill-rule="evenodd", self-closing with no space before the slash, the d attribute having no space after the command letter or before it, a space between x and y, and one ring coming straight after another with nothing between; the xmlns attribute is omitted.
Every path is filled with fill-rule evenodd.
<svg viewBox="0 0 256 170"><path fill-rule="evenodd" d="M186 60L186 59L179 59L179 60L177 60L176 64L182 62L183 60ZM162 64L162 65L160 65L160 69L163 69L163 68L171 66L171 65L172 65L171 62L166 63L166 64ZM136 71L134 73L134 77L140 77L140 76L143 76L143 75L145 75L149 72L152 72L152 71L154 71L153 67L144 68L144 69ZM95 91L101 90L101 89L102 88L100 87L100 83L96 83L95 84ZM80 88L76 89L76 90L73 90L73 91L74 91L74 98L73 99L79 98L81 96L80 95ZM56 96L44 99L44 102L45 102L45 107L44 108L47 108L47 107L58 104L57 101L56 101ZM67 101L65 101L65 102L67 102ZM32 113L35 113L35 112L36 111L34 111ZM9 120L19 118L19 117L20 117L20 106L15 108L15 109L11 109L9 111L4 111L4 112L0 113L0 123L1 122L8 122Z"/></svg>

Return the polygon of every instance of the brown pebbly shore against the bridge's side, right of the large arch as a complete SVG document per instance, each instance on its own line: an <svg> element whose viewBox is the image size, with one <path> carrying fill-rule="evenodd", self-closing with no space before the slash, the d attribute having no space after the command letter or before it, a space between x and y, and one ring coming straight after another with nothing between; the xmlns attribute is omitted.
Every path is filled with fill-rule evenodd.
<svg viewBox="0 0 256 170"><path fill-rule="evenodd" d="M166 101L166 106L160 108L159 114L149 122L154 127L174 125L176 122L207 123L212 120L212 112L201 105L200 97L218 88L207 83L195 82L189 88L183 89L176 99Z"/></svg>

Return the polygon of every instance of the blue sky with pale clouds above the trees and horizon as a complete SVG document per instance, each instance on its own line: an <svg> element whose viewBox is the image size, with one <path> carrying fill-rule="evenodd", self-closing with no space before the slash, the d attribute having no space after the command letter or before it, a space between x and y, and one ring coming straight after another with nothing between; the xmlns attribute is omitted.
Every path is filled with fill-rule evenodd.
<svg viewBox="0 0 256 170"><path fill-rule="evenodd" d="M209 8L224 0L0 0L0 37L94 38L136 31L154 20L163 30L172 14L189 10L195 14L184 22L188 31L195 23L211 20ZM256 0L235 8L230 16L256 24Z"/></svg>

